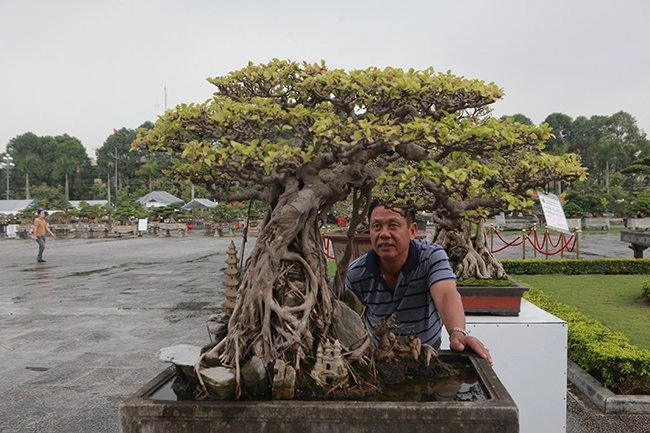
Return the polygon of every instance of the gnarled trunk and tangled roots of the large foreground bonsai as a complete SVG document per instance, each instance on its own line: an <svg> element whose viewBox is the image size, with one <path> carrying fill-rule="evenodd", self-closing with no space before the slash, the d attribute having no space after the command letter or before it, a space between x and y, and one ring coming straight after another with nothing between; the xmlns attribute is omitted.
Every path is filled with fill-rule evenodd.
<svg viewBox="0 0 650 433"><path fill-rule="evenodd" d="M251 253L228 324L228 335L206 357L236 368L256 355L298 369L331 337L332 293L318 218L323 198L313 189L279 196Z"/></svg>

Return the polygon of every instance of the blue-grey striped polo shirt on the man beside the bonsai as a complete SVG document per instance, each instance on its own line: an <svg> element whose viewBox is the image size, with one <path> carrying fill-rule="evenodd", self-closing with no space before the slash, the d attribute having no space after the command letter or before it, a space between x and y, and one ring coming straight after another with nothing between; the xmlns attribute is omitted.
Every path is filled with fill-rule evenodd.
<svg viewBox="0 0 650 433"><path fill-rule="evenodd" d="M412 240L394 291L380 273L379 256L371 249L350 263L345 281L346 290L351 290L366 306L364 319L368 328L374 333L377 321L395 313L402 324L393 331L395 335L413 333L424 344L437 344L442 321L430 288L438 281L456 279L445 250L426 240Z"/></svg>

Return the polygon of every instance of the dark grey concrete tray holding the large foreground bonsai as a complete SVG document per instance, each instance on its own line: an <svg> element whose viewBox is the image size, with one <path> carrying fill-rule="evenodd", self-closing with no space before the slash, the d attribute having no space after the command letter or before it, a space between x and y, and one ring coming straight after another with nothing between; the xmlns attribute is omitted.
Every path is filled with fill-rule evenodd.
<svg viewBox="0 0 650 433"><path fill-rule="evenodd" d="M162 401L149 398L174 376L163 371L119 407L123 433L515 433L517 407L490 366L467 356L485 401Z"/></svg>

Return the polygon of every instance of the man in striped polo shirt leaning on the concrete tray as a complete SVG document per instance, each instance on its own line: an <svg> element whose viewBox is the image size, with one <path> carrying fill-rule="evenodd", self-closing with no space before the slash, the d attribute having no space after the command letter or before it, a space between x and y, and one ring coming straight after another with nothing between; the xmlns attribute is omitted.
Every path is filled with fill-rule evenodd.
<svg viewBox="0 0 650 433"><path fill-rule="evenodd" d="M445 326L452 350L469 348L492 365L490 351L465 330L465 311L444 249L415 240L414 212L373 203L368 220L372 249L350 264L345 288L366 306L369 328L394 314L401 324L396 335L415 334L437 349Z"/></svg>

